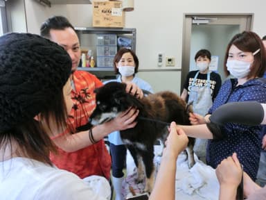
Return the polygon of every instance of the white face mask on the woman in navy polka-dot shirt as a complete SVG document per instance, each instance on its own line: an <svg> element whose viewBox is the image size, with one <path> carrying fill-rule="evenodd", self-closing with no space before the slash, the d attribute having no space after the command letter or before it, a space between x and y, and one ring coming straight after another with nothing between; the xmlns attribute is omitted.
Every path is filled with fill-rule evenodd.
<svg viewBox="0 0 266 200"><path fill-rule="evenodd" d="M236 78L245 78L250 72L250 65L240 60L227 60L227 70Z"/></svg>

